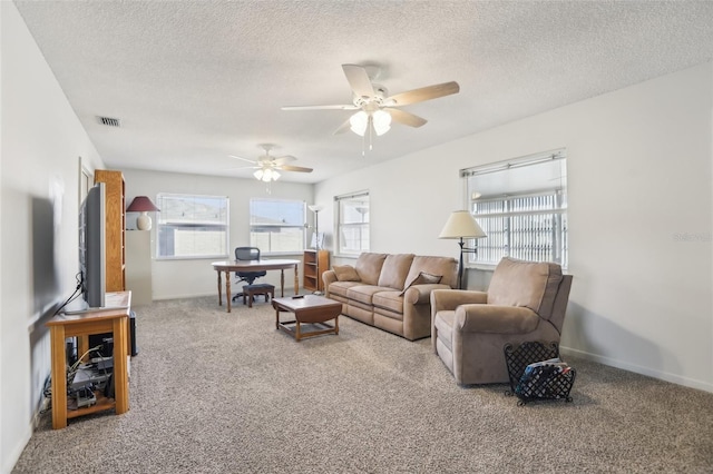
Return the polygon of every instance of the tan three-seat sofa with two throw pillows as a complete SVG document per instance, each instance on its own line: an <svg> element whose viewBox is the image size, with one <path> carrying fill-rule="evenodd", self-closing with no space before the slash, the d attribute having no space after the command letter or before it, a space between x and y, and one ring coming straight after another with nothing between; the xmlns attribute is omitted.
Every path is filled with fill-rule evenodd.
<svg viewBox="0 0 713 474"><path fill-rule="evenodd" d="M414 340L431 335L431 292L456 286L457 271L455 258L364 253L322 279L344 315Z"/></svg>

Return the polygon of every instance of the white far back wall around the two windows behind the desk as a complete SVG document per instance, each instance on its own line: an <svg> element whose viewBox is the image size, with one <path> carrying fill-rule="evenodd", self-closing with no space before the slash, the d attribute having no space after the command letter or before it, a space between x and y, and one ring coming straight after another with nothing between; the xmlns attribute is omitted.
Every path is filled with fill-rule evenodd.
<svg viewBox="0 0 713 474"><path fill-rule="evenodd" d="M156 198L158 192L196 194L227 196L229 198L229 245L231 259L233 249L250 245L250 199L296 199L312 204L313 186L295 182L277 181L270 187L267 194L264 182L256 179L223 178L215 176L197 176L167 172L152 172L126 169L127 205L135 196ZM133 215L131 215L133 214ZM136 214L127 215L127 226L134 225ZM312 213L307 211L307 221L312 221ZM157 260L156 226L152 228L152 286L154 299L169 299L188 296L215 295L217 303L217 274L211 266L212 261L224 258L191 259L191 260ZM280 258L302 258L302 254ZM302 270L302 265L300 265ZM234 282L233 278L232 282ZM271 283L279 287L280 271L268 271L262 283ZM292 293L294 273L285 270L285 294ZM300 276L302 285L302 276ZM237 289L236 286L233 286ZM235 292L233 292L235 293Z"/></svg>

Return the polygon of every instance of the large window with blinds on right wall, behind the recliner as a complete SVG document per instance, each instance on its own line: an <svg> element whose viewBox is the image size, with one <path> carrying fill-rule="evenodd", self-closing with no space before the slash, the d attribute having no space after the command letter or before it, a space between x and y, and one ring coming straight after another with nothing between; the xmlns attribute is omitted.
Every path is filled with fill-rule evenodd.
<svg viewBox="0 0 713 474"><path fill-rule="evenodd" d="M461 170L469 208L488 235L469 263L509 256L567 267L567 166L564 150Z"/></svg>

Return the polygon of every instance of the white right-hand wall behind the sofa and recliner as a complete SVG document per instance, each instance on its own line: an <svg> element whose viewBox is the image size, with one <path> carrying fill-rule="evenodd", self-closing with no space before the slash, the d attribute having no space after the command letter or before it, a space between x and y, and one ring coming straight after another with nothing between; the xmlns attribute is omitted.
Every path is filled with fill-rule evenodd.
<svg viewBox="0 0 713 474"><path fill-rule="evenodd" d="M565 147L575 279L563 348L713 392L712 96L707 62L329 179L320 228L334 227L333 196L369 189L372 250L457 257L437 236L463 208L458 170Z"/></svg>

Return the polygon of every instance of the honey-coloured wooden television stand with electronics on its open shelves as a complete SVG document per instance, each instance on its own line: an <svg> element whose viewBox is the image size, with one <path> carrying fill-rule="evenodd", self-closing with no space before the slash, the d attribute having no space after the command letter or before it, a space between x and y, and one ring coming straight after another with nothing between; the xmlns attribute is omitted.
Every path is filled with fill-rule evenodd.
<svg viewBox="0 0 713 474"><path fill-rule="evenodd" d="M107 293L107 305L125 306L120 309L89 309L86 313L59 314L47 322L50 329L52 355L52 428L67 426L67 418L115 408L116 414L129 411L128 334L131 292ZM114 337L115 398L97 396L92 406L67 411L67 359L65 342L77 336L77 356L88 348L91 334L111 333Z"/></svg>

